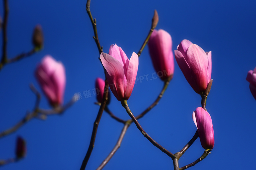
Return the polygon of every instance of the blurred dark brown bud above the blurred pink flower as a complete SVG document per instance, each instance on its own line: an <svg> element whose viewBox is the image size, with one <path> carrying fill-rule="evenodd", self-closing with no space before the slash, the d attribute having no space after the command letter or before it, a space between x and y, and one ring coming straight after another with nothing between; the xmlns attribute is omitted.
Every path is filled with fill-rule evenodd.
<svg viewBox="0 0 256 170"><path fill-rule="evenodd" d="M34 28L32 43L36 50L40 50L44 44L44 36L42 31L42 26L37 24Z"/></svg>

